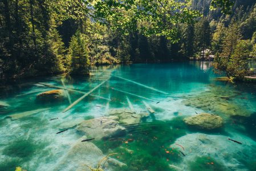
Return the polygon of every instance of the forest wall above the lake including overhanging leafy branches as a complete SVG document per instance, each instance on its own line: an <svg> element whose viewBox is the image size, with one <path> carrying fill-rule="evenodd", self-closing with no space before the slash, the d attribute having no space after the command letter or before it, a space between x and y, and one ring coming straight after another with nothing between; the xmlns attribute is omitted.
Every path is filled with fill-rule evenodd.
<svg viewBox="0 0 256 171"><path fill-rule="evenodd" d="M231 21L253 42L255 11L250 0L3 0L0 67L6 78L88 74L91 64L221 55Z"/></svg>

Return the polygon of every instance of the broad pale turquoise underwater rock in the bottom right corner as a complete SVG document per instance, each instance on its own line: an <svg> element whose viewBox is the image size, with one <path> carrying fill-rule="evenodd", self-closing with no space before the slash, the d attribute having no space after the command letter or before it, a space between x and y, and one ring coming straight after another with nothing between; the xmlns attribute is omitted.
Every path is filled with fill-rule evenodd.
<svg viewBox="0 0 256 171"><path fill-rule="evenodd" d="M255 161L256 142L249 137L241 136L233 133L231 139L241 141L241 144L234 143L224 135L207 135L204 133L190 133L178 138L170 148L181 150L186 156L182 157L182 161L175 164L182 170L190 170L191 162L193 165L200 165L195 162L198 157L208 156L214 158L216 162L222 163L222 168L215 170L247 170L247 164ZM181 149L180 144L184 147ZM213 166L215 166L213 162ZM209 169L210 165L206 164ZM204 169L203 169L204 170ZM213 169L214 170L214 169ZM250 169L248 169L250 170Z"/></svg>

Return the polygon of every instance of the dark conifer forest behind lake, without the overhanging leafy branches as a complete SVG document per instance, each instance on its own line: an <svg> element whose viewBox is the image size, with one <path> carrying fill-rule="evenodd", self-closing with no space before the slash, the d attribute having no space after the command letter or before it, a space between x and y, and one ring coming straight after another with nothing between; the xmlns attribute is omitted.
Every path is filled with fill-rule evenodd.
<svg viewBox="0 0 256 171"><path fill-rule="evenodd" d="M0 2L0 67L3 75L77 75L88 74L88 66L91 64L149 63L196 58L206 48L210 48L213 54L221 53L225 48L225 45L222 46L225 44L225 30L230 32L236 29L240 30L237 30L238 34L233 33L241 36L239 39L246 40L248 46L251 46L250 55L256 53L256 6L253 0L235 1L233 12L229 15L220 10L211 11L210 0L194 0L188 9L199 10L203 15L200 17L196 12L189 11L187 16L184 15L186 18L183 15L183 18L176 17L178 22L173 23L169 31L170 35L175 35L175 39L166 37L162 32L168 32L168 29L164 28L161 28L164 30L162 32L147 35L132 28L129 30L129 26L123 34L119 27L112 29L109 25L96 22L97 15L91 18L88 11L88 15L80 14L83 1L72 1L72 6L62 6L62 1L58 3L46 0ZM103 12L101 16L106 17L107 13ZM159 16L157 19L160 19ZM189 17L193 21L185 21ZM121 27L118 19L111 18ZM160 20L165 21L165 18ZM141 23L151 24L147 20ZM139 25L131 27L143 28Z"/></svg>

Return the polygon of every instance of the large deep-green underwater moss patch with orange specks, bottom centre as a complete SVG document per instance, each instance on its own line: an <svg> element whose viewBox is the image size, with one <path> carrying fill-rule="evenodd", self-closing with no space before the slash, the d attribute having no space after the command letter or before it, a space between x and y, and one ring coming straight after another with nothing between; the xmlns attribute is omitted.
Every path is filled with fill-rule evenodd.
<svg viewBox="0 0 256 171"><path fill-rule="evenodd" d="M170 144L186 134L182 117L171 121L153 121L129 125L124 140L96 141L104 153L117 153L113 156L128 165L121 170L172 170L169 164L181 160L178 150ZM119 137L120 138L120 137Z"/></svg>

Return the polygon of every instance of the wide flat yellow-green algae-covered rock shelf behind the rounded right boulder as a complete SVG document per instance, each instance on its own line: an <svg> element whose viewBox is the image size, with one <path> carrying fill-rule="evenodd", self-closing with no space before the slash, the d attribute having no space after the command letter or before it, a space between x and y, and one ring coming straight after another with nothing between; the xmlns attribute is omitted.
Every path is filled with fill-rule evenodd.
<svg viewBox="0 0 256 171"><path fill-rule="evenodd" d="M249 117L252 112L249 109L245 109L242 104L235 103L234 100L238 95L240 93L232 89L211 86L208 91L201 92L195 96L184 97L185 100L182 103L190 107L227 116Z"/></svg>

